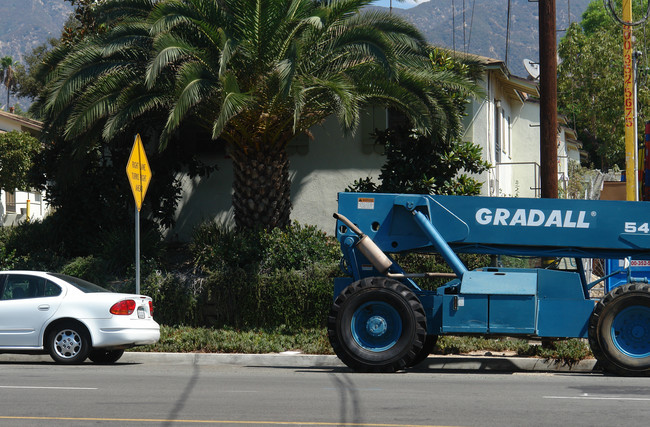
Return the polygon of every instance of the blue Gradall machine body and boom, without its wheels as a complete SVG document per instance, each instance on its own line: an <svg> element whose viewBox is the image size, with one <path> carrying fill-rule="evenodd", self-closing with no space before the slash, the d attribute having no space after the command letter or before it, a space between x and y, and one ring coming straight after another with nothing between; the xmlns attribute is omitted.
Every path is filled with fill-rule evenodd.
<svg viewBox="0 0 650 427"><path fill-rule="evenodd" d="M587 337L596 301L581 268L469 271L458 253L650 259L644 202L340 193L338 212L386 254L443 256L456 278L425 291L410 274L417 272L395 262L379 271L359 250L359 235L337 222L350 277L335 281L335 296L365 277L395 277L420 299L431 335Z"/></svg>

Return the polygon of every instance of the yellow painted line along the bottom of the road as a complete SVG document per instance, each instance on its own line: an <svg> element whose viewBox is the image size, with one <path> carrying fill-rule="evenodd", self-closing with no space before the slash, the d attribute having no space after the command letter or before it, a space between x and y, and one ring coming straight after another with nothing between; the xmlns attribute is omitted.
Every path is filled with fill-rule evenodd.
<svg viewBox="0 0 650 427"><path fill-rule="evenodd" d="M372 423L319 423L299 421L226 421L226 420L165 420L149 418L72 418L72 417L11 417L0 415L0 420L40 420L40 421L110 421L143 423L187 423L187 424L249 424L280 426L356 426L356 427L459 427L427 424L372 424Z"/></svg>

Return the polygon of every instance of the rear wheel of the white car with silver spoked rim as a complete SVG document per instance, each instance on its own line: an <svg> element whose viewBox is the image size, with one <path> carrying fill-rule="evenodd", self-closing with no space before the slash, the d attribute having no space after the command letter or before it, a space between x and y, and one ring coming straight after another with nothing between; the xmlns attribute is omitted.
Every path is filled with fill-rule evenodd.
<svg viewBox="0 0 650 427"><path fill-rule="evenodd" d="M47 349L57 363L76 365L82 363L90 353L90 334L78 322L62 322L47 334Z"/></svg>

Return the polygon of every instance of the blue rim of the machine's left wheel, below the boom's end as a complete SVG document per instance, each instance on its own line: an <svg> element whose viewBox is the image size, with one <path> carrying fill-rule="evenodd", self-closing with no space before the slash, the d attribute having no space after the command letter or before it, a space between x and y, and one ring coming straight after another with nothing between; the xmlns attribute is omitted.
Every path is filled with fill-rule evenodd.
<svg viewBox="0 0 650 427"><path fill-rule="evenodd" d="M393 347L402 335L402 318L393 306L367 302L352 315L352 337L362 348L380 352Z"/></svg>

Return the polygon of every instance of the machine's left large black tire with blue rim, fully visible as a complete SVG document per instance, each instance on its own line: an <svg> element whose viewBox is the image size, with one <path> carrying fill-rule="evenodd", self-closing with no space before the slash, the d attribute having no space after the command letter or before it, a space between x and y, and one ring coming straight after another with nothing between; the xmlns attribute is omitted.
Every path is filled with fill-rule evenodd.
<svg viewBox="0 0 650 427"><path fill-rule="evenodd" d="M327 333L339 359L358 372L395 372L410 366L426 336L417 296L402 283L370 277L341 292Z"/></svg>

